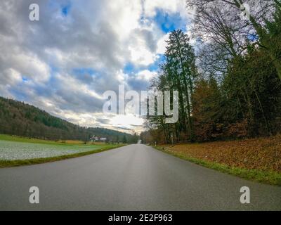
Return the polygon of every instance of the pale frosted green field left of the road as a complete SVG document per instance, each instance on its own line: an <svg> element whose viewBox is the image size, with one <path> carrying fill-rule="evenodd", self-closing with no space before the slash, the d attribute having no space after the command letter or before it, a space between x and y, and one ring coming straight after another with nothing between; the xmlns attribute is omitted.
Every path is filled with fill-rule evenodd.
<svg viewBox="0 0 281 225"><path fill-rule="evenodd" d="M0 140L0 160L28 160L98 150L101 146L64 146Z"/></svg>

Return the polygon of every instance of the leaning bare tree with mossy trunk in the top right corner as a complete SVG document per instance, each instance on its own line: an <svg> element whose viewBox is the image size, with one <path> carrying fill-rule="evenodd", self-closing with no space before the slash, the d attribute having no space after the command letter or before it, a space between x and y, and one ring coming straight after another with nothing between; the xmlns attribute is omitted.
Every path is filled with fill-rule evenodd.
<svg viewBox="0 0 281 225"><path fill-rule="evenodd" d="M251 1L251 0L188 0L188 6L195 6L197 8L197 17L201 17L200 11L206 11L212 6L228 8L228 11L233 11L230 18L236 23L243 23L244 30L237 30L237 32L247 32L247 34L254 35L257 39L257 44L263 48L268 56L273 61L277 74L281 80L281 58L280 53L276 53L275 43L270 32L266 29L268 21L273 21L274 11L280 11L280 0L268 1ZM249 20L242 21L241 13L245 13L245 4L248 4L251 12L249 13ZM276 23L278 24L278 23ZM280 26L280 25L278 25ZM246 30L247 28L247 30ZM251 32L254 30L255 34ZM280 31L280 29L277 29ZM281 37L281 33L277 33L277 37ZM280 49L280 48L278 48Z"/></svg>

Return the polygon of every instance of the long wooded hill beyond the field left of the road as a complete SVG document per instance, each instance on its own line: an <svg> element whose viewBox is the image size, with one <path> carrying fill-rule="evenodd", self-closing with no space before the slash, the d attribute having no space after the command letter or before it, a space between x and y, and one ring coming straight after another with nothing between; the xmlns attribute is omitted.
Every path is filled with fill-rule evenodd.
<svg viewBox="0 0 281 225"><path fill-rule="evenodd" d="M33 105L2 97L0 97L0 134L81 141L89 141L91 136L95 135L106 137L108 141L136 141L136 137L131 134L100 127L80 127Z"/></svg>

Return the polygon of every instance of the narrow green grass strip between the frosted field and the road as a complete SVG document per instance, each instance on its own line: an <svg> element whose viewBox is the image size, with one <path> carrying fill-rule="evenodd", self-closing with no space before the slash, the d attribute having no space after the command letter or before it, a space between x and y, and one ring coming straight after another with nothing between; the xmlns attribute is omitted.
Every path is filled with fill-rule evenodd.
<svg viewBox="0 0 281 225"><path fill-rule="evenodd" d="M100 148L98 150L90 150L87 152L83 153L75 153L75 154L70 154L70 155L60 155L60 156L55 156L51 158L37 158L37 159L30 159L30 160L0 160L0 168L4 167L19 167L19 166L25 166L25 165L34 165L34 164L41 164L41 163L46 163L46 162L55 162L59 160L67 160L70 158L77 158L85 155L91 155L95 153L101 153L104 152L105 150L111 150L114 148L120 148L122 146L126 145L115 145L115 146L106 146L104 148Z"/></svg>

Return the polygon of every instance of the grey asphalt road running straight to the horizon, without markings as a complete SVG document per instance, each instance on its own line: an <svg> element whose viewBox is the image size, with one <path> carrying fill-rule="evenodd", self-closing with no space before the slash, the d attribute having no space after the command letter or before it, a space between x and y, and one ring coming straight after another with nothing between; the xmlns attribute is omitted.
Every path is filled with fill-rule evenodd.
<svg viewBox="0 0 281 225"><path fill-rule="evenodd" d="M38 186L40 203L29 202ZM240 188L251 204L240 203ZM281 188L245 181L141 144L0 169L0 210L281 210Z"/></svg>

